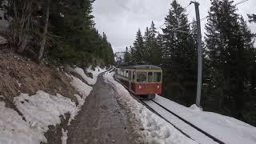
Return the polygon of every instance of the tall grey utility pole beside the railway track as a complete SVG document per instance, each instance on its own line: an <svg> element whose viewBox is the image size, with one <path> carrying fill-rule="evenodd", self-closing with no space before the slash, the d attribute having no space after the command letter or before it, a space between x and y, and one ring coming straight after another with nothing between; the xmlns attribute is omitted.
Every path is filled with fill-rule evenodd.
<svg viewBox="0 0 256 144"><path fill-rule="evenodd" d="M199 3L198 2L190 2L194 3L195 14L197 19L197 29L198 29L198 89L197 89L197 98L196 105L200 107L201 101L201 90L202 90L202 34L201 34L201 22L200 22L200 14L199 14Z"/></svg>

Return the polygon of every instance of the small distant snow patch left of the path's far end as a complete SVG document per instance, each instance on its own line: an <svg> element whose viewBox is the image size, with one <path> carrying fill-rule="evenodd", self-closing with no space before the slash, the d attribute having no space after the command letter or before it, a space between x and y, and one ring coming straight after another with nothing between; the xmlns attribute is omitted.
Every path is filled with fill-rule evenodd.
<svg viewBox="0 0 256 144"><path fill-rule="evenodd" d="M79 67L74 68L74 72L79 74L89 85L94 85L97 82L98 74L106 71L106 68L102 69L99 66L95 67L95 70L91 70L91 66L86 69L88 73L93 74L93 78L87 77L84 70Z"/></svg>

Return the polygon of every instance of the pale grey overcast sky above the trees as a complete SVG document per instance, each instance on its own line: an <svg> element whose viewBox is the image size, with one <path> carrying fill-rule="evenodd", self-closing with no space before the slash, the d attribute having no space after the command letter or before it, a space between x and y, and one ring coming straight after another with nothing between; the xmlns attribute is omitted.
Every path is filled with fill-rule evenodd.
<svg viewBox="0 0 256 144"><path fill-rule="evenodd" d="M234 0L234 3L242 0ZM162 26L164 18L170 9L172 0L96 0L94 2L94 21L97 29L105 32L114 52L124 51L126 46L134 42L138 28L144 31L154 21L156 27ZM186 7L190 0L178 0ZM207 16L210 8L210 0L198 0L200 3L200 17ZM194 5L186 9L190 21L195 19ZM238 14L247 19L246 14L256 14L256 0L249 0L238 5ZM204 32L206 20L201 22ZM256 24L248 24L253 32L256 32ZM158 29L160 30L160 29Z"/></svg>

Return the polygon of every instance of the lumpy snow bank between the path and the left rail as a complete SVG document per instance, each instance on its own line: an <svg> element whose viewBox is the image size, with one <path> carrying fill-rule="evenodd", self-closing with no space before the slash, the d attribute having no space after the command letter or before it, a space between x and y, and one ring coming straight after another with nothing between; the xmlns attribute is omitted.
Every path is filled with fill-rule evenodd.
<svg viewBox="0 0 256 144"><path fill-rule="evenodd" d="M161 144L192 144L197 143L187 138L178 130L171 126L168 122L154 114L130 96L130 93L118 82L114 81L113 73L104 75L105 82L110 83L115 91L118 92L118 100L122 102L132 114L131 121L136 125L142 126L140 133L145 136L145 143L161 143ZM137 121L137 122L136 122Z"/></svg>

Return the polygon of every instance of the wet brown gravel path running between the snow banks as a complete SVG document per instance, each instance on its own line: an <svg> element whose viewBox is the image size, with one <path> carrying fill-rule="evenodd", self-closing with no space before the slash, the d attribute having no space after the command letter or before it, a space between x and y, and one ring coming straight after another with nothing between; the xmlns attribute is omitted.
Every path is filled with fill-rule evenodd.
<svg viewBox="0 0 256 144"><path fill-rule="evenodd" d="M126 113L114 98L114 91L102 76L86 99L80 114L68 129L68 144L132 144Z"/></svg>

